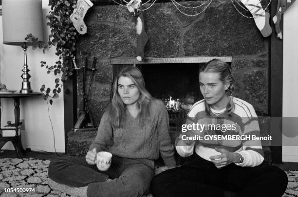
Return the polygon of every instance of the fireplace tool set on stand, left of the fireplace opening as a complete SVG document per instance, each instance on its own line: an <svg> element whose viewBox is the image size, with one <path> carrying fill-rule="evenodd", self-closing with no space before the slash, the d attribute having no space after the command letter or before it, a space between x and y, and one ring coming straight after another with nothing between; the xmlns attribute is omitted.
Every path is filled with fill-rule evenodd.
<svg viewBox="0 0 298 197"><path fill-rule="evenodd" d="M92 64L92 68L88 68L86 66L86 58L89 54L87 52L80 52L80 56L82 58L82 67L78 68L76 66L75 63L75 57L73 58L73 63L74 63L74 67L75 67L75 72L77 75L77 79L78 79L78 84L80 86L80 89L82 91L82 96L83 96L83 109L79 110L79 114L78 114L78 119L75 123L75 131L94 131L96 130L96 128L94 127L93 124L93 120L92 120L92 116L90 114L90 110L89 110L89 106L88 106L88 98L89 98L89 94L90 94L90 89L91 89L91 83L93 80L93 74L94 71L96 71L95 69L95 65L96 65L96 57L93 57L93 64ZM81 80L81 77L79 75L79 71L83 70L82 73L82 78L83 78L83 82ZM86 72L91 71L91 79L90 79L90 83L89 83L89 87L88 87L88 91L86 94L86 87L85 87L85 81L86 81Z"/></svg>

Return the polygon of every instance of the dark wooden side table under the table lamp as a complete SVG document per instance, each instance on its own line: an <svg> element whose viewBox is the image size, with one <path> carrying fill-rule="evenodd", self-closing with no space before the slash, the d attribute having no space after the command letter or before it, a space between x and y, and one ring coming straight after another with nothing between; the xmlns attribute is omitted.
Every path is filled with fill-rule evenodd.
<svg viewBox="0 0 298 197"><path fill-rule="evenodd" d="M13 98L15 102L15 131L16 135L13 137L2 137L2 132L4 130L12 130L12 128L1 128L1 122L0 122L0 149L3 147L3 145L9 141L11 141L15 147L17 156L19 158L22 158L23 152L26 152L23 148L22 141L21 141L21 135L18 134L19 129L19 99L20 98L26 98L26 97L33 97L33 96L42 96L43 93L41 92L32 92L32 93L2 93L0 92L0 99L1 98ZM1 100L0 100L0 107L1 107ZM1 110L0 110L0 120L1 120ZM30 149L29 149L30 151Z"/></svg>

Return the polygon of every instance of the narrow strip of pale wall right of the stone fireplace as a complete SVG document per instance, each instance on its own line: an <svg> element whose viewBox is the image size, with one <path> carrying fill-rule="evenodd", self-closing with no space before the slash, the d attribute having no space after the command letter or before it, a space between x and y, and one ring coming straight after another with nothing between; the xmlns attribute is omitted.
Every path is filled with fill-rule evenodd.
<svg viewBox="0 0 298 197"><path fill-rule="evenodd" d="M283 100L282 116L298 117L298 2L294 2L283 18ZM291 135L283 136L283 144L298 142L298 121L292 121ZM293 126L295 124L295 126ZM286 129L288 125L283 125ZM289 137L292 136L292 137ZM294 137L296 136L296 137ZM298 146L283 146L282 161L298 162Z"/></svg>

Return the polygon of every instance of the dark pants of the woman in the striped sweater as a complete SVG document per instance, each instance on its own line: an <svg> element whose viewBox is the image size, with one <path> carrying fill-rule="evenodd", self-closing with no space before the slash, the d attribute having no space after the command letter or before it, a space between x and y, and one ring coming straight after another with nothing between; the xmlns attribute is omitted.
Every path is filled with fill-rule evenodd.
<svg viewBox="0 0 298 197"><path fill-rule="evenodd" d="M151 181L153 197L281 197L288 178L276 166L240 167L231 163L217 169L197 154L177 168L160 173Z"/></svg>

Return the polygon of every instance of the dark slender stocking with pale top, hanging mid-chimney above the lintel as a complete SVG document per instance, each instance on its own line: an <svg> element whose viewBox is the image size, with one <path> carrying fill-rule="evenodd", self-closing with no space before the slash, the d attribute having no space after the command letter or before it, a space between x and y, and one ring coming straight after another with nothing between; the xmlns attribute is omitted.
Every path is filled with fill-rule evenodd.
<svg viewBox="0 0 298 197"><path fill-rule="evenodd" d="M142 61L144 58L144 48L148 41L148 35L145 32L144 14L138 9L142 9L141 0L131 0L127 4L127 8L130 13L136 16L136 33L137 33L137 48L136 48L136 59Z"/></svg>

